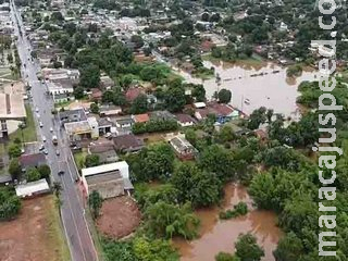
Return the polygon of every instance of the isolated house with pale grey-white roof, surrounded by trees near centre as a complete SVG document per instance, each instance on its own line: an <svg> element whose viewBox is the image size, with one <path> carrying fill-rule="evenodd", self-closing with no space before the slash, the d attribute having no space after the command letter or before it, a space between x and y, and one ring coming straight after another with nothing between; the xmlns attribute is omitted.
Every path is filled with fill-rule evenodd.
<svg viewBox="0 0 348 261"><path fill-rule="evenodd" d="M181 160L195 159L197 150L190 142L188 142L184 135L177 135L174 138L171 138L169 141L177 158Z"/></svg>

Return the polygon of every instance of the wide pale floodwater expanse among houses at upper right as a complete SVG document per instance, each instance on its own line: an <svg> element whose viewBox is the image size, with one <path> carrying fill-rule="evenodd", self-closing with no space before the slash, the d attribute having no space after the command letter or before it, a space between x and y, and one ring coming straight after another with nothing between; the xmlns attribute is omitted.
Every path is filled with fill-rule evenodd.
<svg viewBox="0 0 348 261"><path fill-rule="evenodd" d="M297 87L302 80L314 80L319 75L318 72L304 70L300 77L288 78L286 67L273 63L248 66L241 63L204 61L203 64L215 69L215 75L219 74L221 78L219 83L215 77L202 80L183 71L178 74L187 83L203 84L208 99L211 99L214 91L229 89L233 92L232 104L247 114L266 107L285 116L299 116L296 98L300 94Z"/></svg>

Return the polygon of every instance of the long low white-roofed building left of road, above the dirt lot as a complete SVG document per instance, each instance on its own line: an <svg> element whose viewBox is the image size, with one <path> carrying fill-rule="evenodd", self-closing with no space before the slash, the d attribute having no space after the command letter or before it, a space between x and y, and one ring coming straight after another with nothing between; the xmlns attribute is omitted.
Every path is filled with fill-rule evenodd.
<svg viewBox="0 0 348 261"><path fill-rule="evenodd" d="M21 198L29 198L50 192L46 178L15 186L15 194Z"/></svg>

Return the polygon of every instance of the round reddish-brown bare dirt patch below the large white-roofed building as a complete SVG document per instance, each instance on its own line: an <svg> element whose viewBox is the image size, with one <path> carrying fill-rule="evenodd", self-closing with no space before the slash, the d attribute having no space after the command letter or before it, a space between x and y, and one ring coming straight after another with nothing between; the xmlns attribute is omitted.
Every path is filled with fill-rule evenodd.
<svg viewBox="0 0 348 261"><path fill-rule="evenodd" d="M117 197L103 202L97 226L105 236L119 239L134 232L140 219L140 211L130 197Z"/></svg>

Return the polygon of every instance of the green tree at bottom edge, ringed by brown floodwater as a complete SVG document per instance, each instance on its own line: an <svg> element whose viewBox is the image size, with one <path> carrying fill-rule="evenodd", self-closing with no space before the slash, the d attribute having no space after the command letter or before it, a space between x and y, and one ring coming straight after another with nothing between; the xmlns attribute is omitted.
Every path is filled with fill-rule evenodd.
<svg viewBox="0 0 348 261"><path fill-rule="evenodd" d="M239 235L235 247L240 261L259 261L264 257L263 249L258 246L257 238L250 233Z"/></svg>

